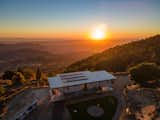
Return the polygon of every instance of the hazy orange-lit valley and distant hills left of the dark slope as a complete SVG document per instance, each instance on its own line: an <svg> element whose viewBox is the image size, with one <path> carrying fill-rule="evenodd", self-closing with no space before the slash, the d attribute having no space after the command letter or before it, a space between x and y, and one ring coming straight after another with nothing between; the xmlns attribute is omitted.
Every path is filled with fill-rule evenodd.
<svg viewBox="0 0 160 120"><path fill-rule="evenodd" d="M60 72L80 59L127 41L0 39L0 72L37 64L47 72Z"/></svg>

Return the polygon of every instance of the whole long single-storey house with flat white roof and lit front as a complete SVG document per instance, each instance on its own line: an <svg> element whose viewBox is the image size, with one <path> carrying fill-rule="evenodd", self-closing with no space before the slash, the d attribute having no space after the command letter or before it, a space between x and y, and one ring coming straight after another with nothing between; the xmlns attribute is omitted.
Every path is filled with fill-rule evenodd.
<svg viewBox="0 0 160 120"><path fill-rule="evenodd" d="M82 71L58 74L48 78L52 101L65 99L69 95L94 93L97 90L113 90L115 76L106 71Z"/></svg>

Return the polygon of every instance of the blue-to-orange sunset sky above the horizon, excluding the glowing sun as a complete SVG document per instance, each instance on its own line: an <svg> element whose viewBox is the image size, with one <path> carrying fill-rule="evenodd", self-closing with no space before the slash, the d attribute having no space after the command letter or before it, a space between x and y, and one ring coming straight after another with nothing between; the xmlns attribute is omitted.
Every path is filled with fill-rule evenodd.
<svg viewBox="0 0 160 120"><path fill-rule="evenodd" d="M105 24L111 38L160 33L160 0L0 0L0 37L85 39Z"/></svg>

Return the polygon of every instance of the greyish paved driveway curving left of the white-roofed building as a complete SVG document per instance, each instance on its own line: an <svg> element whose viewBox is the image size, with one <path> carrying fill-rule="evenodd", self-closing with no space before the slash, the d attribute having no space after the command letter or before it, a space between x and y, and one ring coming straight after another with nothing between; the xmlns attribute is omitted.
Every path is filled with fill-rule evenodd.
<svg viewBox="0 0 160 120"><path fill-rule="evenodd" d="M13 120L16 116L23 113L26 107L35 100L43 100L48 96L48 88L29 88L25 91L17 94L11 101L8 103L8 112L4 116L4 120ZM48 97L49 99L49 97Z"/></svg>

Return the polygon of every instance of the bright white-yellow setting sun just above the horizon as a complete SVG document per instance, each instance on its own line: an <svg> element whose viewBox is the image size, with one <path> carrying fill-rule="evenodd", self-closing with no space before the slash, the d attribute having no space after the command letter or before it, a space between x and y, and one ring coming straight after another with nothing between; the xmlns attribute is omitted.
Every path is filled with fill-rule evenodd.
<svg viewBox="0 0 160 120"><path fill-rule="evenodd" d="M107 37L107 31L105 25L96 26L90 33L92 40L105 40Z"/></svg>

